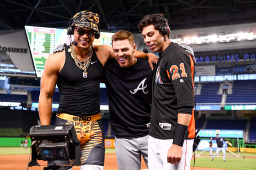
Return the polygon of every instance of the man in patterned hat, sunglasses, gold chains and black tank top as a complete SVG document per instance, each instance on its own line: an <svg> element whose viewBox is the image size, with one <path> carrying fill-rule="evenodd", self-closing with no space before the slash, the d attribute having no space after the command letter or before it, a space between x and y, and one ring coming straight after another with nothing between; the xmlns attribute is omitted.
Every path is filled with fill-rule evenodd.
<svg viewBox="0 0 256 170"><path fill-rule="evenodd" d="M68 35L74 41L63 52L49 56L41 79L39 116L42 125L52 117L52 97L56 84L60 103L56 124L73 124L81 142L81 169L103 169L105 145L100 116L99 83L113 49L107 45L92 45L99 38L99 15L90 11L78 12L70 19ZM157 60L155 55L136 52L140 57ZM69 164L54 161L49 164ZM62 166L61 169L71 169Z"/></svg>

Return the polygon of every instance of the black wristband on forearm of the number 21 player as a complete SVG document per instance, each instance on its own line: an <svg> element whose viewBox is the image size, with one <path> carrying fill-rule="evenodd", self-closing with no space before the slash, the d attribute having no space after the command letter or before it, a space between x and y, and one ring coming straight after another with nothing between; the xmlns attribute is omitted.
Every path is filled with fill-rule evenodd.
<svg viewBox="0 0 256 170"><path fill-rule="evenodd" d="M188 132L188 126L178 123L175 131L174 139L173 139L173 144L182 147L184 140L187 136L187 132Z"/></svg>

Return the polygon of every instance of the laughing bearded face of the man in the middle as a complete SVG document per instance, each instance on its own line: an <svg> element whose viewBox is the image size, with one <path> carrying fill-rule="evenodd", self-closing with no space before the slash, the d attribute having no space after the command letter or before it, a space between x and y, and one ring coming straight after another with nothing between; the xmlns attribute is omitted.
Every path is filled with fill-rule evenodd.
<svg viewBox="0 0 256 170"><path fill-rule="evenodd" d="M133 57L136 44L131 44L128 39L113 41L115 59L121 67L130 67L137 62Z"/></svg>

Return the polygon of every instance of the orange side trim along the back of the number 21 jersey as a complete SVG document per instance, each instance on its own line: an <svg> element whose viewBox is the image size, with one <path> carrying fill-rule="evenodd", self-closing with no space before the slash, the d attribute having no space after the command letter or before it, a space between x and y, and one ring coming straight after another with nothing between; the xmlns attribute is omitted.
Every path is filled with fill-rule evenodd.
<svg viewBox="0 0 256 170"><path fill-rule="evenodd" d="M193 93L195 96L195 89L194 89L194 60L189 54L190 58L190 69L191 69L191 77L192 77L192 84L193 84ZM188 138L195 138L196 135L196 124L195 124L195 117L194 117L194 108L192 110L191 120L188 125Z"/></svg>

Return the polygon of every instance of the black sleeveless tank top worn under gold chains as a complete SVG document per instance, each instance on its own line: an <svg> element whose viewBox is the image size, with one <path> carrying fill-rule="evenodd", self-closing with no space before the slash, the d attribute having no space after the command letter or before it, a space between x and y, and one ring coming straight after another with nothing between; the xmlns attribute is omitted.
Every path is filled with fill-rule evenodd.
<svg viewBox="0 0 256 170"><path fill-rule="evenodd" d="M58 75L57 85L60 91L60 105L58 113L68 113L75 116L89 116L100 112L99 83L103 72L103 65L93 50L93 55L87 78L83 77L67 46L66 60Z"/></svg>

